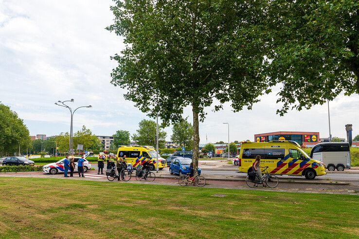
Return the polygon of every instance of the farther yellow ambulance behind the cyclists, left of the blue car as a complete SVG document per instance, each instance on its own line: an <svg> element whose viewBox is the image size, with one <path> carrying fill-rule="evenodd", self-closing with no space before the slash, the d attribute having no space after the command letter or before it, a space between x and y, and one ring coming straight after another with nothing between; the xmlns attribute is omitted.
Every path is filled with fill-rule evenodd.
<svg viewBox="0 0 359 239"><path fill-rule="evenodd" d="M157 168L156 164L156 150L152 146L119 146L117 151L117 157L124 157L126 155L126 162L130 163L134 168L143 164L145 161L148 161L150 170L155 170ZM158 169L162 170L166 167L166 160L158 157Z"/></svg>

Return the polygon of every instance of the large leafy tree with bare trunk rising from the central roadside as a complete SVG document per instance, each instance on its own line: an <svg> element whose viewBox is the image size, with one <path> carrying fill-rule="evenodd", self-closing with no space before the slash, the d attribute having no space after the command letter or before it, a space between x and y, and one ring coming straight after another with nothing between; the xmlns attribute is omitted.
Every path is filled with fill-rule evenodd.
<svg viewBox="0 0 359 239"><path fill-rule="evenodd" d="M205 108L251 109L269 92L262 75L265 0L114 0L109 31L125 49L112 59L112 84L125 98L164 123L193 114L193 163L197 170L199 121Z"/></svg>

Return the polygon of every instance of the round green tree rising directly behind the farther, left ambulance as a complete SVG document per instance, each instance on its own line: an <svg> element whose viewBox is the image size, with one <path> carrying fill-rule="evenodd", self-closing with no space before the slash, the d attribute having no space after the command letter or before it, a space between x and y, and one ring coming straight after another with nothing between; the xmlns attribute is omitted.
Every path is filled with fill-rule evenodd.
<svg viewBox="0 0 359 239"><path fill-rule="evenodd" d="M132 139L136 141L138 145L149 145L156 148L156 122L153 120L143 119L139 123L139 129L137 129L137 133L132 135ZM159 148L164 147L164 143L166 142L167 133L162 130L159 126L158 129L158 146Z"/></svg>

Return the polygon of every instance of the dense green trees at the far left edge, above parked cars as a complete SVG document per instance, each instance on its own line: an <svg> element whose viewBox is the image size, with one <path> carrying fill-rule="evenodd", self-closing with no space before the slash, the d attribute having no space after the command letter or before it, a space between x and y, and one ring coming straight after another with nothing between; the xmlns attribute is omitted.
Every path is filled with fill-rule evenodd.
<svg viewBox="0 0 359 239"><path fill-rule="evenodd" d="M29 130L15 111L0 103L0 155L13 155L19 147L31 147Z"/></svg>

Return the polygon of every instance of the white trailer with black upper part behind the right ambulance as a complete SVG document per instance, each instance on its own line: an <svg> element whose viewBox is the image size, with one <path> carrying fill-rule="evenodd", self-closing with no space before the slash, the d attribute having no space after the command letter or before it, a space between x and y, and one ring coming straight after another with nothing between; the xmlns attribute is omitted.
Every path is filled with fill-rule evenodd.
<svg viewBox="0 0 359 239"><path fill-rule="evenodd" d="M350 168L349 143L320 143L312 148L310 158L322 161L329 171Z"/></svg>

